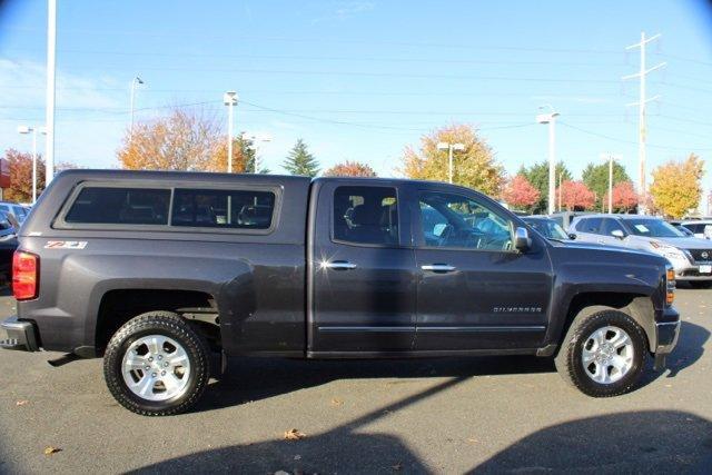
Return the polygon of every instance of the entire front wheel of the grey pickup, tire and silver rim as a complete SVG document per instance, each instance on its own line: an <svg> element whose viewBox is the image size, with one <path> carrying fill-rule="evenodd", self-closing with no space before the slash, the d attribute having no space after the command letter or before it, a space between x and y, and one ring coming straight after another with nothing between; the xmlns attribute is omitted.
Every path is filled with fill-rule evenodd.
<svg viewBox="0 0 712 475"><path fill-rule="evenodd" d="M629 315L610 309L578 315L555 364L561 376L582 393L611 397L635 387L646 357L646 337L640 325Z"/></svg>

